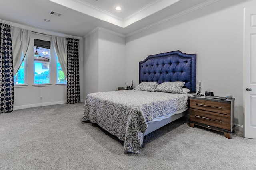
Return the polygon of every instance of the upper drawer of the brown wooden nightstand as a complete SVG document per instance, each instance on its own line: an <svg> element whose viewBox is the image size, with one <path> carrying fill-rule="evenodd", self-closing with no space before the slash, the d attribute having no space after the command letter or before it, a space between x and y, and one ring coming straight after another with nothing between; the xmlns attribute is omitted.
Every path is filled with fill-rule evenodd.
<svg viewBox="0 0 256 170"><path fill-rule="evenodd" d="M190 99L190 108L230 115L230 103Z"/></svg>

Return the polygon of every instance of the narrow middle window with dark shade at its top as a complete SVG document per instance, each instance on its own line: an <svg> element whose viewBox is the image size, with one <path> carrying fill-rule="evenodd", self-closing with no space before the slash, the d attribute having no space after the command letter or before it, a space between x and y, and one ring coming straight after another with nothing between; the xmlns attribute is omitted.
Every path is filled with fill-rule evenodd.
<svg viewBox="0 0 256 170"><path fill-rule="evenodd" d="M50 41L34 39L34 84L50 83Z"/></svg>

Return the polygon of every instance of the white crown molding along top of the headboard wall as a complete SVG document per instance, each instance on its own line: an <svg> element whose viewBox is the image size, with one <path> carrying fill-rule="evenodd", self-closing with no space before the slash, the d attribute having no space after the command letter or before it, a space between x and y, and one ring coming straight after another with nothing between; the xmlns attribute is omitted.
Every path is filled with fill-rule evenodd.
<svg viewBox="0 0 256 170"><path fill-rule="evenodd" d="M160 21L157 21L157 22L155 22L155 23L152 23L152 24L150 24L150 25L148 25L148 26L146 26L146 27L143 27L142 29L138 29L137 31L134 31L134 32L129 33L129 34L126 34L126 37L130 37L130 36L132 36L132 35L135 35L135 34L137 34L137 33L140 33L140 32L142 32L142 31L145 31L145 30L147 30L147 29L150 29L150 28L152 28L152 27L155 27L155 26L160 25L160 24L162 24L162 23L165 23L165 22L167 22L167 21L173 20L173 19L175 19L175 18L178 18L178 17L180 17L180 16L183 16L183 15L185 15L185 14L188 14L188 13L190 13L190 12L193 12L193 11L195 11L195 10L198 10L198 9L200 9L200 8L203 8L203 7L205 7L205 6L208 6L208 5L213 4L213 3L215 3L215 2L218 2L218 1L220 1L220 0L208 0L208 1L206 1L206 2L203 2L203 3L201 3L201 4L198 4L198 5L193 6L193 7L191 7L191 8L188 8L188 9L182 11L182 12L178 12L177 14L174 14L174 15L172 15L172 16L169 16L169 17L167 17L167 18L164 18L164 19L162 19L162 20L160 20Z"/></svg>

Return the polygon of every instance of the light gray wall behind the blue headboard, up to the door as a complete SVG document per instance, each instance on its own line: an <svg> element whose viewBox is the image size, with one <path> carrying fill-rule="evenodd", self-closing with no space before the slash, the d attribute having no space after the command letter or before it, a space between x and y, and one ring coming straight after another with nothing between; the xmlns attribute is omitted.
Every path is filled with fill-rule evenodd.
<svg viewBox="0 0 256 170"><path fill-rule="evenodd" d="M126 37L126 81L138 85L138 62L148 55L180 50L197 54L201 91L233 94L235 123L243 117L243 12L255 0L222 0L136 35ZM132 70L132 71L131 71Z"/></svg>

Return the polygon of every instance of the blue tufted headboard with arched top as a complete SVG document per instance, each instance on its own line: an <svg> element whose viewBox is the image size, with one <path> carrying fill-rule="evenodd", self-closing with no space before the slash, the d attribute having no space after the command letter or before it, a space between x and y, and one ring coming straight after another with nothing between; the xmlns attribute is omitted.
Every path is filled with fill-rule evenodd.
<svg viewBox="0 0 256 170"><path fill-rule="evenodd" d="M139 82L185 82L184 88L196 92L196 54L172 51L149 55L139 63Z"/></svg>

